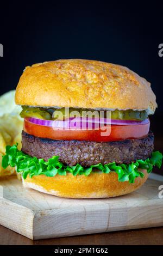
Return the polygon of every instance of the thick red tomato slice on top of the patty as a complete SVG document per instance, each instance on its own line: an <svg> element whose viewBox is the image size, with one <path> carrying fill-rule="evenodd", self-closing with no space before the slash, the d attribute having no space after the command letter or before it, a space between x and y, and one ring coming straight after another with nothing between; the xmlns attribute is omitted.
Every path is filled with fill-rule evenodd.
<svg viewBox="0 0 163 256"><path fill-rule="evenodd" d="M104 130L54 129L54 127L31 123L24 118L24 131L41 138L71 141L123 141L124 139L143 138L148 135L150 123L140 125L111 125L110 135L103 136Z"/></svg>

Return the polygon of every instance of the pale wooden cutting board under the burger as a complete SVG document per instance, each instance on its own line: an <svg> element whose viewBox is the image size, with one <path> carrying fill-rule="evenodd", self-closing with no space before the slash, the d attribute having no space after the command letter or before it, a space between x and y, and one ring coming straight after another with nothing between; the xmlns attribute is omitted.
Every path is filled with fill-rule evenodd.
<svg viewBox="0 0 163 256"><path fill-rule="evenodd" d="M163 225L162 181L110 199L67 199L24 189L15 176L0 181L0 224L30 239Z"/></svg>

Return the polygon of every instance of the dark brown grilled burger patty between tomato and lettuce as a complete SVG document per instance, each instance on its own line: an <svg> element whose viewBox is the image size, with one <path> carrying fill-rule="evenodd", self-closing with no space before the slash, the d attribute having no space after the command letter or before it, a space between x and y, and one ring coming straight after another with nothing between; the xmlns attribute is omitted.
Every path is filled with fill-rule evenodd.
<svg viewBox="0 0 163 256"><path fill-rule="evenodd" d="M91 166L97 163L131 163L145 160L153 151L153 133L146 138L117 142L55 141L22 132L22 151L30 156L45 159L59 156L60 162L69 166L80 163Z"/></svg>

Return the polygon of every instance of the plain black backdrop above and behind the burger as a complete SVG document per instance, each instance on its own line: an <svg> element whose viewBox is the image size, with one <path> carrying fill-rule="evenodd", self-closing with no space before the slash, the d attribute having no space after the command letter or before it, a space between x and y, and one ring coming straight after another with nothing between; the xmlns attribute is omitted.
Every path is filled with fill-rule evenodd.
<svg viewBox="0 0 163 256"><path fill-rule="evenodd" d="M60 58L121 64L152 84L162 114L163 3L143 1L1 3L1 94L25 66Z"/></svg>

